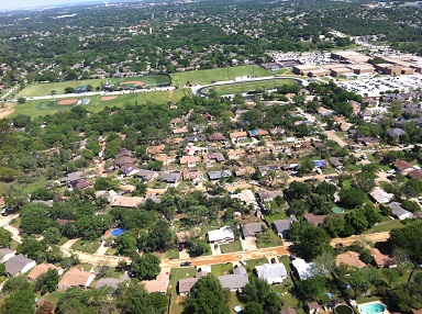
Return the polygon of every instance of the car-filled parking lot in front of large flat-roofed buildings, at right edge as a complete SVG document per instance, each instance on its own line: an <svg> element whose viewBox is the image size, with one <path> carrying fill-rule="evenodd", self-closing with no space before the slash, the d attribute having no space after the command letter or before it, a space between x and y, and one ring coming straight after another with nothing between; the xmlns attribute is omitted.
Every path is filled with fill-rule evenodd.
<svg viewBox="0 0 422 314"><path fill-rule="evenodd" d="M368 97L380 96L381 92L399 90L407 92L422 85L421 75L409 75L398 77L379 77L363 80L341 81L338 86L355 93Z"/></svg>

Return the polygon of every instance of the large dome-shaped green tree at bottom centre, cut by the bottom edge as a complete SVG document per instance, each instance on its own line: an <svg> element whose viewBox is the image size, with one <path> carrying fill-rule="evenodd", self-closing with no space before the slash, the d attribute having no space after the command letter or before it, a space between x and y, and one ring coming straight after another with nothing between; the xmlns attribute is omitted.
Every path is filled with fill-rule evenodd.
<svg viewBox="0 0 422 314"><path fill-rule="evenodd" d="M198 280L186 304L186 314L230 314L226 294L220 281L212 274Z"/></svg>

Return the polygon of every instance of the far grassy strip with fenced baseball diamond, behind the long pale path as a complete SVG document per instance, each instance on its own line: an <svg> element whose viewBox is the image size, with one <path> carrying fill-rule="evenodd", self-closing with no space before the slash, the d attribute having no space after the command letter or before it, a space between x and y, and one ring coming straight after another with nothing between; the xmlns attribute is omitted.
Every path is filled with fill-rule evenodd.
<svg viewBox="0 0 422 314"><path fill-rule="evenodd" d="M56 94L65 93L65 88L71 87L77 89L78 87L91 85L93 90L97 87L100 87L101 83L112 83L118 87L122 83L122 86L132 87L140 85L142 82L143 86L155 86L160 83L169 82L169 78L165 75L148 75L148 76L138 76L131 78L111 78L111 79L88 79L88 80L71 80L71 81L60 81L60 82L47 82L47 83L33 83L25 87L22 91L20 91L15 98L25 97L36 97L36 96L48 96L53 90L56 91ZM140 83L138 83L140 82Z"/></svg>

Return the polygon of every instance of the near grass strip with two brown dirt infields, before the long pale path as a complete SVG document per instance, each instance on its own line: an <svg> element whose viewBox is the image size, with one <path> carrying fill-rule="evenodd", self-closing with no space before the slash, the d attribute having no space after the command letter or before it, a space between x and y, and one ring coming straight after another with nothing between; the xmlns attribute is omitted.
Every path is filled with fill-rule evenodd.
<svg viewBox="0 0 422 314"><path fill-rule="evenodd" d="M123 106L127 103L143 104L147 102L166 104L169 101L179 101L186 92L177 89L174 91L163 92L135 92L120 96L92 96L70 99L52 99L52 100L29 100L26 103L15 104L14 112L11 116L18 114L27 114L31 117L40 115L54 114L59 111L67 111L75 105L81 105L89 111L98 112L106 106ZM89 101L88 101L89 100ZM66 101L66 103L65 103ZM87 104L84 104L87 103Z"/></svg>

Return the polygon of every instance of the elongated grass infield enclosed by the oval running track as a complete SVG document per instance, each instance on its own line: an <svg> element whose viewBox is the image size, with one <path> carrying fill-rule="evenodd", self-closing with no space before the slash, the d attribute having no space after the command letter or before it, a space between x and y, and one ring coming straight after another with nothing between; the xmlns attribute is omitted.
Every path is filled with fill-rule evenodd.
<svg viewBox="0 0 422 314"><path fill-rule="evenodd" d="M249 81L249 82L236 82L231 85L222 85L212 87L218 94L226 94L226 93L242 93L249 90L257 89L274 89L281 85L296 85L295 80L289 79L269 79L262 81Z"/></svg>

